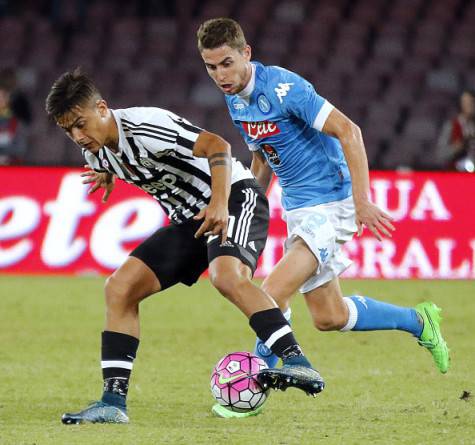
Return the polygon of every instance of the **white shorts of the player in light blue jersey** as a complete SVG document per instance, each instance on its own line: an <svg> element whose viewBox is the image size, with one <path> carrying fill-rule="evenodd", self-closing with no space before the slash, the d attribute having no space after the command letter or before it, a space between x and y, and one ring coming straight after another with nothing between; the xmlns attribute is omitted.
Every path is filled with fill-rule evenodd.
<svg viewBox="0 0 475 445"><path fill-rule="evenodd" d="M353 197L284 213L287 222L287 250L296 237L302 238L318 260L315 274L300 288L310 292L339 276L352 261L341 246L357 232Z"/></svg>

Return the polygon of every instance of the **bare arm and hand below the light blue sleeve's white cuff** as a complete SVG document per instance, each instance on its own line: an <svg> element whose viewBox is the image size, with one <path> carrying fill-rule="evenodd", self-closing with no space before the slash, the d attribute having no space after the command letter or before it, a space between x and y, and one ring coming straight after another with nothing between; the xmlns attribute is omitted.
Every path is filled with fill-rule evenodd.
<svg viewBox="0 0 475 445"><path fill-rule="evenodd" d="M333 108L325 120L322 131L336 137L343 148L353 188L358 235L366 226L381 241L381 233L391 237L393 218L369 200L369 169L363 137L358 125L342 112Z"/></svg>

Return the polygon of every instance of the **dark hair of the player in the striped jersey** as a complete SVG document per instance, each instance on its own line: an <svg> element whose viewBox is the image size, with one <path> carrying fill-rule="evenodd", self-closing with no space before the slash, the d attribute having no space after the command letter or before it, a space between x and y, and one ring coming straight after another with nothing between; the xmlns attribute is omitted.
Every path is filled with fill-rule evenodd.
<svg viewBox="0 0 475 445"><path fill-rule="evenodd" d="M54 120L77 106L86 105L91 99L102 99L92 79L80 68L62 74L53 83L46 98L46 113Z"/></svg>

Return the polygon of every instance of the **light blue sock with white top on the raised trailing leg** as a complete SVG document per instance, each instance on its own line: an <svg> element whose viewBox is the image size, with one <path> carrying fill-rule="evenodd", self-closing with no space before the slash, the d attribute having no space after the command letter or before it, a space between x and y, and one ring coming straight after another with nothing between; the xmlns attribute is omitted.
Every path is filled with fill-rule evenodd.
<svg viewBox="0 0 475 445"><path fill-rule="evenodd" d="M368 297L344 297L348 323L342 331L382 331L397 329L420 337L423 325L415 309L395 306Z"/></svg>

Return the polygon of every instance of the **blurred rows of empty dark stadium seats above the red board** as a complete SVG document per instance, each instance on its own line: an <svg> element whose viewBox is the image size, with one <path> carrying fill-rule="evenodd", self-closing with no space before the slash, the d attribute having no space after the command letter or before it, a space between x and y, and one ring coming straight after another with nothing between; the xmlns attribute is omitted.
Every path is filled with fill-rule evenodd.
<svg viewBox="0 0 475 445"><path fill-rule="evenodd" d="M440 127L475 86L470 0L2 0L0 66L17 70L34 116L23 162L82 162L43 112L52 81L75 66L112 107L170 108L249 160L196 49L198 25L215 16L238 19L255 59L297 71L357 122L372 168L441 168Z"/></svg>

